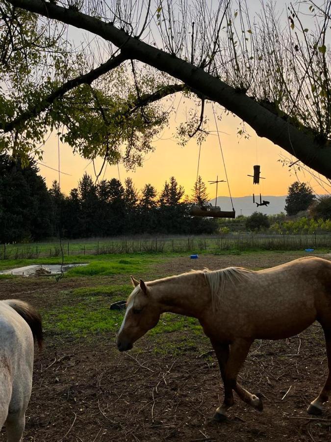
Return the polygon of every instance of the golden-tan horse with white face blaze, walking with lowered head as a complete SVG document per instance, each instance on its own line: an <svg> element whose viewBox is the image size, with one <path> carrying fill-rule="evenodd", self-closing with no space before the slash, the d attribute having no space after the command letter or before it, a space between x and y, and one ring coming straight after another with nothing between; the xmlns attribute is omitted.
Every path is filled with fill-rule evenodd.
<svg viewBox="0 0 331 442"><path fill-rule="evenodd" d="M237 382L254 339L283 339L319 321L325 334L329 375L307 411L322 412L331 390L331 262L306 257L259 271L229 267L147 283L131 279L135 288L127 300L118 349L132 348L163 312L197 318L215 350L224 383L224 402L214 416L219 421L233 405L233 390L247 404L263 409L261 399Z"/></svg>

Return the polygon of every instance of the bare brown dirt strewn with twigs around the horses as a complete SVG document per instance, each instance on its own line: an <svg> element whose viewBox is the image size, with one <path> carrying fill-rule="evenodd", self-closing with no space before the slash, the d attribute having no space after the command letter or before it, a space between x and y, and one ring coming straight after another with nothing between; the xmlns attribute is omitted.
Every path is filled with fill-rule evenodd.
<svg viewBox="0 0 331 442"><path fill-rule="evenodd" d="M174 258L155 265L153 275L205 266L263 268L299 256L303 254ZM119 283L127 280L127 276L117 278ZM109 283L109 278L103 281ZM86 278L64 278L58 283L46 277L1 280L0 299L16 297L45 308L58 305L60 291L86 285ZM189 331L169 333L164 339L176 346L185 333ZM46 335L44 350L36 351L24 441L331 440L330 405L320 417L306 414L327 375L323 332L318 324L286 341L255 342L240 372L240 382L262 394L264 410L259 413L236 398L224 423L211 418L223 392L216 358L203 337L194 339L195 344L179 356L160 357L153 352L155 343L148 335L137 342L138 352L124 354L116 350L114 335L87 342ZM0 441L5 440L4 435L2 431Z"/></svg>

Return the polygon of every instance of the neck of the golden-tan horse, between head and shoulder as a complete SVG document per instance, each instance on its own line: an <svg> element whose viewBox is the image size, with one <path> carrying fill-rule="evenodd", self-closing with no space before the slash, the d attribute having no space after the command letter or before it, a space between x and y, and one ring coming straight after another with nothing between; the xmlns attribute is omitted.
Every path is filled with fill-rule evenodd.
<svg viewBox="0 0 331 442"><path fill-rule="evenodd" d="M203 273L159 280L155 292L164 311L199 318L210 304L210 290Z"/></svg>

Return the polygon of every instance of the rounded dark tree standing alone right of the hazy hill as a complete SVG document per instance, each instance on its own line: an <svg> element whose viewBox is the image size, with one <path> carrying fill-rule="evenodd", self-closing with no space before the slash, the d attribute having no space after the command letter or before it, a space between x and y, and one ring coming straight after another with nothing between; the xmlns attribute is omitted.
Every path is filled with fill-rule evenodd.
<svg viewBox="0 0 331 442"><path fill-rule="evenodd" d="M295 181L288 187L288 195L285 199L285 211L287 215L296 215L302 210L307 210L314 199L315 195L308 184Z"/></svg>

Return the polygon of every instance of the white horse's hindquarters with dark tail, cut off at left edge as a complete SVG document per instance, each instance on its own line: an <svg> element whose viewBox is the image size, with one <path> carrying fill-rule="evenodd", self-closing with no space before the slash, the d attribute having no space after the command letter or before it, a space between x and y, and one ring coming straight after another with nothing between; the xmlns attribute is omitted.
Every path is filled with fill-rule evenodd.
<svg viewBox="0 0 331 442"><path fill-rule="evenodd" d="M0 429L7 442L20 442L31 395L33 341L39 348L43 331L39 313L24 301L0 301Z"/></svg>

